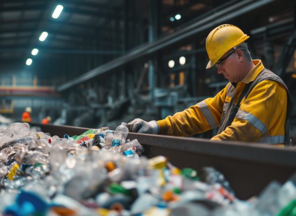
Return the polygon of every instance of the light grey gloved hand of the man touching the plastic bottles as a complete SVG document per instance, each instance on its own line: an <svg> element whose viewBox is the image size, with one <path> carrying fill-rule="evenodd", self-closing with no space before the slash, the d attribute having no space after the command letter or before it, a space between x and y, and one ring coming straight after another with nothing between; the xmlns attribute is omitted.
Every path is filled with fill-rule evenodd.
<svg viewBox="0 0 296 216"><path fill-rule="evenodd" d="M136 118L127 124L130 132L142 134L158 134L158 124L156 121L144 121L141 118Z"/></svg>

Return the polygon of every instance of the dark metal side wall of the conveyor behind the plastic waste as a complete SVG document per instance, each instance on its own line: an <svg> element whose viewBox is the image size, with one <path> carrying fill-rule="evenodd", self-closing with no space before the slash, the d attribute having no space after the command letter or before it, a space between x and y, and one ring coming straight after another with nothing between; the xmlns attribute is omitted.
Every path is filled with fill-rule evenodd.
<svg viewBox="0 0 296 216"><path fill-rule="evenodd" d="M83 133L88 128L39 125L43 132L63 137ZM240 199L258 195L271 180L285 182L296 172L296 149L264 144L212 142L207 139L129 133L127 139L145 147L145 155L164 155L179 167L200 171L213 166L226 177Z"/></svg>

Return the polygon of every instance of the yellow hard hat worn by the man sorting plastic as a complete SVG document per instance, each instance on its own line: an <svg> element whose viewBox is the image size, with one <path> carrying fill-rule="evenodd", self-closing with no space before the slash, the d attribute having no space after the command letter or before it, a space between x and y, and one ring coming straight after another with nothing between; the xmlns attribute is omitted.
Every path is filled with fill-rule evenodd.
<svg viewBox="0 0 296 216"><path fill-rule="evenodd" d="M213 67L228 50L249 37L240 28L229 24L218 26L212 30L206 41L206 49L210 59L206 69Z"/></svg>

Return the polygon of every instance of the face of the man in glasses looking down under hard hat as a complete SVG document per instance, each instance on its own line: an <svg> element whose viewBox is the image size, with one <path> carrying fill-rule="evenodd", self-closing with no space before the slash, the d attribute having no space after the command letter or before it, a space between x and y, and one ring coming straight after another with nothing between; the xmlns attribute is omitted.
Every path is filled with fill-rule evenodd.
<svg viewBox="0 0 296 216"><path fill-rule="evenodd" d="M240 70L238 68L238 58L235 50L232 49L225 53L217 62L216 67L218 68L218 73L222 73L229 82L241 81Z"/></svg>

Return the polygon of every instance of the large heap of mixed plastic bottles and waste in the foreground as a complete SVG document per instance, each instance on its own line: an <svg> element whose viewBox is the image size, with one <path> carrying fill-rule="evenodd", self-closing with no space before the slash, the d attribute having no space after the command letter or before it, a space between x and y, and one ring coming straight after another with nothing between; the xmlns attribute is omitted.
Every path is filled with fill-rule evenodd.
<svg viewBox="0 0 296 216"><path fill-rule="evenodd" d="M105 130L106 129L106 130ZM289 216L296 176L272 182L258 198L238 200L211 167L198 174L115 131L64 138L11 124L0 134L0 212L4 216Z"/></svg>

